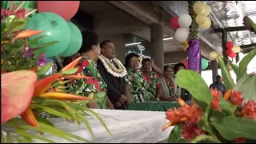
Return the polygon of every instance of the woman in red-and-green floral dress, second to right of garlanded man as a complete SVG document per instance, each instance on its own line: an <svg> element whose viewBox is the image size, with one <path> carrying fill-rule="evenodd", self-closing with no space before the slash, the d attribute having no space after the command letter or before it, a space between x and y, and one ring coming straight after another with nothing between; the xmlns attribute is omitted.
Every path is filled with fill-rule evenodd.
<svg viewBox="0 0 256 144"><path fill-rule="evenodd" d="M142 77L148 83L147 95L150 101L160 101L162 95L162 86L159 75L152 70L152 62L150 58L142 60Z"/></svg>

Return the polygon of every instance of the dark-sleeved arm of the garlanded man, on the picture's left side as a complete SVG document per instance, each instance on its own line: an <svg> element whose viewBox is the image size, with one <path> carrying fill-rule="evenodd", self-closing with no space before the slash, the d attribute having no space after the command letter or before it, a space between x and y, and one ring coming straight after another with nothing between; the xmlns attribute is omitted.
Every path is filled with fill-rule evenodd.
<svg viewBox="0 0 256 144"><path fill-rule="evenodd" d="M114 88L114 86L112 86L111 83L107 81L107 78L106 78L106 69L105 69L105 67L103 66L102 62L100 62L100 60L98 60L97 65L98 65L98 71L99 71L99 73L102 75L102 78L103 78L104 81L106 82L106 85L107 85L107 95L108 95L108 97L109 97L111 100L118 101L118 100L121 98L122 94L119 93L119 91L116 90L116 89Z"/></svg>

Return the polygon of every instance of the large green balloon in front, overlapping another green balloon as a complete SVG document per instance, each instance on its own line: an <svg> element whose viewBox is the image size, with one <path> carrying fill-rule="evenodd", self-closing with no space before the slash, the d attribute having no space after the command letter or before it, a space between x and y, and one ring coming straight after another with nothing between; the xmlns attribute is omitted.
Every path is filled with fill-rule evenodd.
<svg viewBox="0 0 256 144"><path fill-rule="evenodd" d="M34 14L34 16L26 22L25 30L30 27L32 27L31 30L44 31L41 34L34 35L30 40L46 35L46 37L38 40L37 45L31 45L31 48L43 46L47 42L58 41L54 43L54 45L42 48L41 51L46 54L46 57L54 57L58 54L62 54L70 45L70 26L68 26L65 19L58 14L50 12Z"/></svg>

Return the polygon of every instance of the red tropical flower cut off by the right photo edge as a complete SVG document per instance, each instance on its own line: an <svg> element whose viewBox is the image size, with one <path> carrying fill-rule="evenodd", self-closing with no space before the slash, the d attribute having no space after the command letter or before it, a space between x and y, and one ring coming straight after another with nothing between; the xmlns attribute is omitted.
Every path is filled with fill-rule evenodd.
<svg viewBox="0 0 256 144"><path fill-rule="evenodd" d="M256 120L256 102L248 101L242 110L242 115L246 114L247 118L251 120Z"/></svg>

